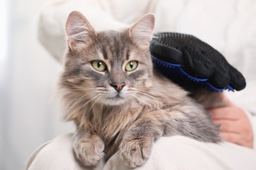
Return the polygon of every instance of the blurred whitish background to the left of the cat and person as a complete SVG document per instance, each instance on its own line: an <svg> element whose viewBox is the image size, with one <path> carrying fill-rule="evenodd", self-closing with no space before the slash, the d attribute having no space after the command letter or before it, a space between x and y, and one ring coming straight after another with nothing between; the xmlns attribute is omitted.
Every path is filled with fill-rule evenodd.
<svg viewBox="0 0 256 170"><path fill-rule="evenodd" d="M0 169L24 169L38 146L72 131L53 102L61 65L37 41L44 0L0 0Z"/></svg>

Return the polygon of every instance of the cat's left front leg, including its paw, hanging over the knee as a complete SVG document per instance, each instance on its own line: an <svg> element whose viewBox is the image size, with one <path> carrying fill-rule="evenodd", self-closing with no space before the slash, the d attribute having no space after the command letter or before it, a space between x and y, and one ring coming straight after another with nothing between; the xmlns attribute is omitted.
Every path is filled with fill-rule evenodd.
<svg viewBox="0 0 256 170"><path fill-rule="evenodd" d="M77 129L74 152L83 165L96 165L104 157L104 142L93 129Z"/></svg>

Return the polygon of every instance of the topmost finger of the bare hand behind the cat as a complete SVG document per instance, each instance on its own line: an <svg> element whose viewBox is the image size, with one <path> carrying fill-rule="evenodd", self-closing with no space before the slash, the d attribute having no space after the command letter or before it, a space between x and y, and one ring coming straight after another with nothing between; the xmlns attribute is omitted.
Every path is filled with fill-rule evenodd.
<svg viewBox="0 0 256 170"><path fill-rule="evenodd" d="M232 107L219 107L209 110L211 118L213 120L227 119L227 120L238 120L239 116L236 114Z"/></svg>

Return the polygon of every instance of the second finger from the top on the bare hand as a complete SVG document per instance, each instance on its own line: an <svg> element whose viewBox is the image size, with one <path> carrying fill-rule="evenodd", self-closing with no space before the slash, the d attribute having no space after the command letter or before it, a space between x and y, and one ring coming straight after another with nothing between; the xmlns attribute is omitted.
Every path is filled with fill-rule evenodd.
<svg viewBox="0 0 256 170"><path fill-rule="evenodd" d="M238 133L239 134L239 126L238 122L234 120L213 120L213 124L220 125L221 132L230 132L230 133Z"/></svg>

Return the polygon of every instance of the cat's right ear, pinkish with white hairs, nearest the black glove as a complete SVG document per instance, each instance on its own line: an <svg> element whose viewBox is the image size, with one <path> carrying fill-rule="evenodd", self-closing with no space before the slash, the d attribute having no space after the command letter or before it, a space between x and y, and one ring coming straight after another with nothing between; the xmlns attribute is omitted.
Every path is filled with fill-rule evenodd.
<svg viewBox="0 0 256 170"><path fill-rule="evenodd" d="M153 37L155 16L152 13L142 16L129 28L129 36L139 43L149 44Z"/></svg>

